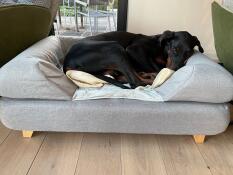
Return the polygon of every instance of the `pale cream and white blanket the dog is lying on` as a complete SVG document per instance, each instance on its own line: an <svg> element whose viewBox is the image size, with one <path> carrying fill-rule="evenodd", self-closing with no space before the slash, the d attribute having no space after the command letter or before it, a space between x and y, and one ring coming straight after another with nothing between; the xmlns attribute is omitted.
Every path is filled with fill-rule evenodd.
<svg viewBox="0 0 233 175"><path fill-rule="evenodd" d="M163 84L172 74L173 70L164 68L156 76L152 86L138 87L136 89L122 89L114 85L106 84L103 80L91 74L81 71L68 71L67 77L79 88L76 90L73 100L93 100L103 98L127 98L143 101L163 101L156 92L156 87Z"/></svg>

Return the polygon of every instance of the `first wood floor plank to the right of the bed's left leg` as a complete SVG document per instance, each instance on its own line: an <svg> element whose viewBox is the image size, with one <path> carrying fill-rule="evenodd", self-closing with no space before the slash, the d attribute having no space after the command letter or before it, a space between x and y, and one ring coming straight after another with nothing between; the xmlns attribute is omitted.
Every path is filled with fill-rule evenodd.
<svg viewBox="0 0 233 175"><path fill-rule="evenodd" d="M74 175L83 134L50 133L43 145L29 175Z"/></svg>

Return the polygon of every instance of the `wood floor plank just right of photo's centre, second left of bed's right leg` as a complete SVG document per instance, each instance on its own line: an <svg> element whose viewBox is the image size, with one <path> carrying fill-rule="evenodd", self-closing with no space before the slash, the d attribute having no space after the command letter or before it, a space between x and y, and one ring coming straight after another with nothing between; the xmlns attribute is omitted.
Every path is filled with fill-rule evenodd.
<svg viewBox="0 0 233 175"><path fill-rule="evenodd" d="M121 147L123 175L166 175L153 135L122 135Z"/></svg>

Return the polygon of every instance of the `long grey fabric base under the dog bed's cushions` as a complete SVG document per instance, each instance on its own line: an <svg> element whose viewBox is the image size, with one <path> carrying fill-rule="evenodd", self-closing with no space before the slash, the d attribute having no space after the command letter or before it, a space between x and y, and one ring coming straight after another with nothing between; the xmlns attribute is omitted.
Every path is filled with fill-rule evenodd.
<svg viewBox="0 0 233 175"><path fill-rule="evenodd" d="M227 104L126 99L0 99L0 119L15 130L216 135L229 122Z"/></svg>

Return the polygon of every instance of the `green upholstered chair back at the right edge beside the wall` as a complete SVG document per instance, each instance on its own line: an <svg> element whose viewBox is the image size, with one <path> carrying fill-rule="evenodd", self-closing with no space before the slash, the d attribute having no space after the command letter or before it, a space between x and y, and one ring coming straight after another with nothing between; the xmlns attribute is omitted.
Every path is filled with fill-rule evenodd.
<svg viewBox="0 0 233 175"><path fill-rule="evenodd" d="M217 55L233 74L233 13L213 2L212 19Z"/></svg>

